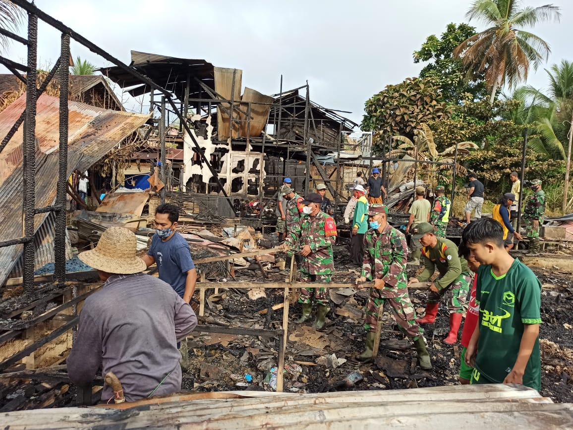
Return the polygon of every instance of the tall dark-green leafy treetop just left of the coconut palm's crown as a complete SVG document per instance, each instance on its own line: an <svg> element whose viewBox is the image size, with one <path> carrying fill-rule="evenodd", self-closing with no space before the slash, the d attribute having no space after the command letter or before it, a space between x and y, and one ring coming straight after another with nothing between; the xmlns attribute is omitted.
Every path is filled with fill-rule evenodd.
<svg viewBox="0 0 573 430"><path fill-rule="evenodd" d="M423 67L419 77L433 78L441 88L442 97L450 104L481 100L488 93L484 73L470 73L468 76L462 59L453 56L454 49L474 34L474 27L452 22L439 38L435 34L428 36L422 48L414 51L415 63L431 61Z"/></svg>

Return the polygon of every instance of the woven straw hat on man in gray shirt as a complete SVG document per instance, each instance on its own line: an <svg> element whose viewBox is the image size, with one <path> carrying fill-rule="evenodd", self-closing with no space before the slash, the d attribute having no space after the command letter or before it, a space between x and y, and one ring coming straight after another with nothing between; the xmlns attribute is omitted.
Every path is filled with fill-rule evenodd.
<svg viewBox="0 0 573 430"><path fill-rule="evenodd" d="M94 269L128 275L147 269L146 263L135 255L136 250L134 232L123 227L109 227L95 249L80 253L78 258Z"/></svg>

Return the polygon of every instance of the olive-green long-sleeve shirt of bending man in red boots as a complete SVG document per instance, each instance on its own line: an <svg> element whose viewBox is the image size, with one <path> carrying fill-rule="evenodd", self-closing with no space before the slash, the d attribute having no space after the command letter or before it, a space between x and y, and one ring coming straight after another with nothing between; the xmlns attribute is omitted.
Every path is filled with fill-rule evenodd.
<svg viewBox="0 0 573 430"><path fill-rule="evenodd" d="M438 269L439 279L434 281L438 290L442 290L462 274L470 274L468 262L465 258L458 257L458 247L452 240L438 238L438 243L433 248L422 247L422 263L424 271L416 278L420 282L430 279Z"/></svg>

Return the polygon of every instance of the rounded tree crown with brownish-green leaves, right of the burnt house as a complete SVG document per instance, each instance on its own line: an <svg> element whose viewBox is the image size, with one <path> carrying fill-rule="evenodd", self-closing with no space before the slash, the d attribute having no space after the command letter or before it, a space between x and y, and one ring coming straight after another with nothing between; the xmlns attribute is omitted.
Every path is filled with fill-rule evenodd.
<svg viewBox="0 0 573 430"><path fill-rule="evenodd" d="M374 131L376 141L402 135L413 139L420 124L449 117L450 109L439 93L439 86L429 78L407 78L386 88L366 101L360 127Z"/></svg>

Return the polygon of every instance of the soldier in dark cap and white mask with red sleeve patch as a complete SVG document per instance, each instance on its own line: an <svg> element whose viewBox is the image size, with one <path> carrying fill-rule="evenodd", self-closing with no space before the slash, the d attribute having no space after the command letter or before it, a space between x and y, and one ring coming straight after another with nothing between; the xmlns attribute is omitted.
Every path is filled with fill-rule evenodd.
<svg viewBox="0 0 573 430"><path fill-rule="evenodd" d="M303 259L300 265L301 282L330 282L334 270L332 244L336 241L336 223L334 219L320 211L322 198L311 193L302 200L304 214L298 223L289 229L284 248L288 254L300 253ZM311 318L312 295L317 303L317 316L313 324L317 330L324 328L324 318L329 310L328 288L301 289L299 303L303 305L303 315L297 323Z"/></svg>

